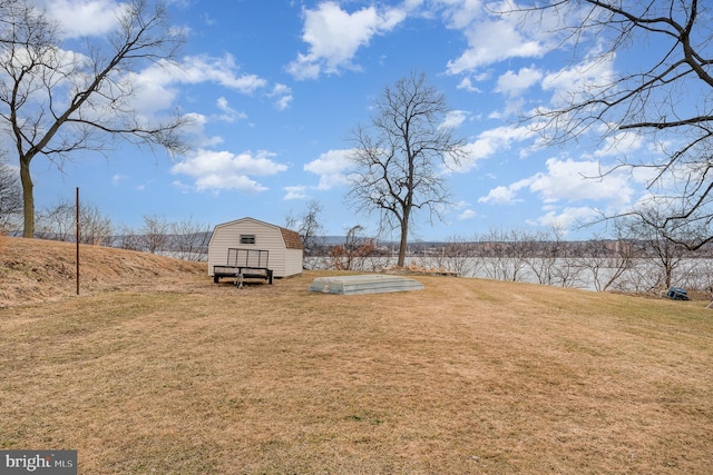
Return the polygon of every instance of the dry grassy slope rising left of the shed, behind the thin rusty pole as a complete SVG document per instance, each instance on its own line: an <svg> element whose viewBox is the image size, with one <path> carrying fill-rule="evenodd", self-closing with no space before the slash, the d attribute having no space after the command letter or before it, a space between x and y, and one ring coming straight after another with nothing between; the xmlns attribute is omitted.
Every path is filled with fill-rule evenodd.
<svg viewBox="0 0 713 475"><path fill-rule="evenodd" d="M80 294L206 273L205 263L99 246L79 249ZM74 243L0 236L0 307L75 295L76 259Z"/></svg>

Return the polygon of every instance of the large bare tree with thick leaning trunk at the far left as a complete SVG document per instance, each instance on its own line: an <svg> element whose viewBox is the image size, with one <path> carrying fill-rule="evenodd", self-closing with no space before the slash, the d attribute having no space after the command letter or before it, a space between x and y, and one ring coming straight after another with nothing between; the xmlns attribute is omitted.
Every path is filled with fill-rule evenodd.
<svg viewBox="0 0 713 475"><path fill-rule="evenodd" d="M182 148L177 132L184 118L149 120L137 113L131 97L131 72L172 60L183 41L163 3L129 0L111 34L87 39L76 52L62 48L59 26L29 0L1 1L0 19L0 120L20 165L25 237L35 234L36 157L61 168L82 150L106 151L109 138Z"/></svg>

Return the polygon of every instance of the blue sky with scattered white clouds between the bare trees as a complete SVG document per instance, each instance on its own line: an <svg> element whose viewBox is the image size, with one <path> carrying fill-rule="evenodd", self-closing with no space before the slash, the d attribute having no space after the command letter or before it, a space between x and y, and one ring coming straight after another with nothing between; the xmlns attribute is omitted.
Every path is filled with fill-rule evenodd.
<svg viewBox="0 0 713 475"><path fill-rule="evenodd" d="M68 44L106 37L121 8L115 0L46 4ZM448 123L467 149L458 167L439 169L451 192L442 220L417 214L411 240L554 226L568 238L586 238L606 231L582 222L626 209L646 194L646 177L626 170L594 178L622 155L654 154L641 138L612 144L593 131L578 142L543 146L517 119L531 105L554 107L586 81L632 67L648 49L634 44L596 65L579 51L578 63L548 32L547 18L522 23L518 16L495 14L495 3L481 0L168 6L186 34L179 65L136 71L136 107L146 113L178 107L189 115L188 150L170 157L125 145L106 156L79 156L61 170L38 158L37 208L74 200L79 187L81 202L117 227L138 229L154 216L212 228L246 216L283 226L316 200L325 235L344 235L355 225L375 235L377 217L344 199L349 137L370 123L384 88L411 72L426 73L443 92L452 110Z"/></svg>

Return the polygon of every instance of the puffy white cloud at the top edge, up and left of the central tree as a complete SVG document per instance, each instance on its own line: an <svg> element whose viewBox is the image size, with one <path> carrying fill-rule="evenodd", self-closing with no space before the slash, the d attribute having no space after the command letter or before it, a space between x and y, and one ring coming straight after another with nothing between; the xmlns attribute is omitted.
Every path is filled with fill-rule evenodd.
<svg viewBox="0 0 713 475"><path fill-rule="evenodd" d="M349 13L334 1L322 2L315 10L305 9L302 40L309 43L309 52L299 53L287 71L296 79L314 79L322 72L358 69L352 59L359 48L404 19L406 11L398 8L378 10L371 6Z"/></svg>

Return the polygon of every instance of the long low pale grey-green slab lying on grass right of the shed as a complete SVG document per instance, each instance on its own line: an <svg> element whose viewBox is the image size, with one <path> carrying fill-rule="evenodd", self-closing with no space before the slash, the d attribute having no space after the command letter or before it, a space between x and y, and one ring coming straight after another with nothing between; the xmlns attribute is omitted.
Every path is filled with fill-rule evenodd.
<svg viewBox="0 0 713 475"><path fill-rule="evenodd" d="M423 285L401 276L367 274L360 276L318 277L312 280L310 291L323 294L385 294L390 291L420 290Z"/></svg>

